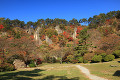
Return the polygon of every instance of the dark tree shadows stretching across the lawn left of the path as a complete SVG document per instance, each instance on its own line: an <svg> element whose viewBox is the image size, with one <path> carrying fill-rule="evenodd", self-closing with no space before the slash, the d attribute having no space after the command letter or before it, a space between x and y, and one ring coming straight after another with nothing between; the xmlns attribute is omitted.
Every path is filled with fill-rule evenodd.
<svg viewBox="0 0 120 80"><path fill-rule="evenodd" d="M45 70L34 69L32 71L5 72L4 74L0 74L0 80L34 80L31 77L45 76L45 74L39 73L41 71ZM69 79L66 76L48 75L36 80L80 80L80 78L74 77Z"/></svg>

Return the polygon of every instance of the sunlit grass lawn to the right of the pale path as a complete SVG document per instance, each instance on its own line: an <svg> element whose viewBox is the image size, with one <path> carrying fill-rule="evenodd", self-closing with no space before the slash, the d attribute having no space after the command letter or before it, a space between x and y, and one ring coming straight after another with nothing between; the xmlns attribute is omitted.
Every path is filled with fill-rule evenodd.
<svg viewBox="0 0 120 80"><path fill-rule="evenodd" d="M117 65L117 67L111 67L110 65ZM120 58L111 62L105 63L93 63L82 65L90 70L91 74L95 74L100 77L107 78L109 80L120 80Z"/></svg>

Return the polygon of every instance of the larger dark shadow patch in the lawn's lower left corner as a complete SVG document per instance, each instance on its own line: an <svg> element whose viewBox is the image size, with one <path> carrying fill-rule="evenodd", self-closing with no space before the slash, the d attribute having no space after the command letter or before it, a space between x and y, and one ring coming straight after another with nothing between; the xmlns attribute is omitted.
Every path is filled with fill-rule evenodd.
<svg viewBox="0 0 120 80"><path fill-rule="evenodd" d="M32 71L5 72L5 74L0 74L0 80L32 80L30 77L42 76L43 74L38 74L41 71L44 70L34 69Z"/></svg>

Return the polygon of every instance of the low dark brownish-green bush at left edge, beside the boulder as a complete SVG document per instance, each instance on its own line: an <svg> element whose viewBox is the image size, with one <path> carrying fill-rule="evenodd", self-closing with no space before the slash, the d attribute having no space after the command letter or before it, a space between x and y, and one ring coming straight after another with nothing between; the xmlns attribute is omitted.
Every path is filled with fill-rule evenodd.
<svg viewBox="0 0 120 80"><path fill-rule="evenodd" d="M0 64L0 72L13 71L13 70L15 70L15 67L12 64L9 64L9 63Z"/></svg>

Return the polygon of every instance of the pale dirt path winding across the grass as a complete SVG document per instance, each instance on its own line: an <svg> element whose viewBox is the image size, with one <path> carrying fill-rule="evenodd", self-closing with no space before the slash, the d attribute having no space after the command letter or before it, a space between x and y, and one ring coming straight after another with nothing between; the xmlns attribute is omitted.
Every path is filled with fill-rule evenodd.
<svg viewBox="0 0 120 80"><path fill-rule="evenodd" d="M98 76L95 76L95 75L92 75L90 74L90 71L85 68L85 67L82 67L80 65L75 65L77 68L79 68L86 76L89 77L89 79L91 80L108 80L108 79L105 79L105 78L102 78L102 77L98 77Z"/></svg>

